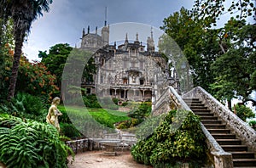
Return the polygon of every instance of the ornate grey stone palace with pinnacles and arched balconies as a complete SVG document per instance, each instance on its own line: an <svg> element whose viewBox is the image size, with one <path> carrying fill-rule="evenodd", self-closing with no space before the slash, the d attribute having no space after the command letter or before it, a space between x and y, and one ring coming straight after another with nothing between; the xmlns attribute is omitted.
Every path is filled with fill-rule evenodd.
<svg viewBox="0 0 256 168"><path fill-rule="evenodd" d="M102 36L83 31L81 48L95 52L97 66L93 87L84 81L87 93L98 97L119 98L122 101L153 101L160 98L170 81L179 87L175 70L171 73L167 60L155 51L153 32L147 39L147 48L136 34L134 42L128 41L117 46L109 44L109 25L102 28ZM173 76L175 79L173 79Z"/></svg>

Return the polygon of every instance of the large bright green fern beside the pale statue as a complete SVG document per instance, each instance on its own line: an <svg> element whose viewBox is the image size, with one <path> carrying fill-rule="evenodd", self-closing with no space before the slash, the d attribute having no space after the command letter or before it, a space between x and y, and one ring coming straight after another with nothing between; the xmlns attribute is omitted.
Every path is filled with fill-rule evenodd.
<svg viewBox="0 0 256 168"><path fill-rule="evenodd" d="M0 115L0 160L8 167L67 167L68 152L54 126Z"/></svg>

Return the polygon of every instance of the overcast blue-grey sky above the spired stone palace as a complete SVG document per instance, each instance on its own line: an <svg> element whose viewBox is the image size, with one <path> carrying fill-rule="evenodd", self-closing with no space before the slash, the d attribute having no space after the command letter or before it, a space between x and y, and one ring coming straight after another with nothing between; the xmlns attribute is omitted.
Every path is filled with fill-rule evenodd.
<svg viewBox="0 0 256 168"><path fill-rule="evenodd" d="M137 22L159 28L164 18L192 6L193 1L189 0L53 0L50 12L33 22L23 52L31 61L38 59L38 50L48 51L57 43L67 42L74 47L83 28L87 31L90 25L90 30L95 30L104 25L105 7L110 25Z"/></svg>

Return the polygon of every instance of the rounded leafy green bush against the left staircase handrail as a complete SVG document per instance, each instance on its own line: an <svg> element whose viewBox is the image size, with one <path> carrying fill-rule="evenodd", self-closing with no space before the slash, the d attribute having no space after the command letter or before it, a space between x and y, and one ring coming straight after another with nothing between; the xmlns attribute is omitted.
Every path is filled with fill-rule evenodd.
<svg viewBox="0 0 256 168"><path fill-rule="evenodd" d="M154 134L139 140L131 148L133 158L145 165L154 166L173 166L184 161L192 165L203 163L207 145L201 131L200 119L192 112L183 111L179 114L170 111ZM177 129L180 122L182 123Z"/></svg>

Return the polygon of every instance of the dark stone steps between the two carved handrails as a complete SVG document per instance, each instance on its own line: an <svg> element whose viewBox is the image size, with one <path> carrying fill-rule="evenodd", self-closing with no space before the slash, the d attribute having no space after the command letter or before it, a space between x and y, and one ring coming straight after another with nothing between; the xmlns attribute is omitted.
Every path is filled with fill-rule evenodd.
<svg viewBox="0 0 256 168"><path fill-rule="evenodd" d="M201 123L215 138L220 147L225 152L232 154L234 167L256 167L254 153L248 151L247 146L241 142L236 134L231 132L223 120L215 116L198 98L183 98L183 100L195 115L201 117Z"/></svg>

